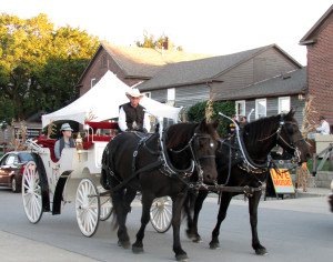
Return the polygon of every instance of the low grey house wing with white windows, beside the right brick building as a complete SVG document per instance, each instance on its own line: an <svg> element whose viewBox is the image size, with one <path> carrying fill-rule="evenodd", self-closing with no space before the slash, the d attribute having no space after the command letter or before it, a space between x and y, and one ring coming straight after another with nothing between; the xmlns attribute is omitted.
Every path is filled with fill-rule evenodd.
<svg viewBox="0 0 333 262"><path fill-rule="evenodd" d="M295 110L295 119L303 124L303 108L307 93L306 67L286 72L254 84L239 89L236 92L224 93L222 101L235 101L236 114L249 115L249 121L261 117Z"/></svg>

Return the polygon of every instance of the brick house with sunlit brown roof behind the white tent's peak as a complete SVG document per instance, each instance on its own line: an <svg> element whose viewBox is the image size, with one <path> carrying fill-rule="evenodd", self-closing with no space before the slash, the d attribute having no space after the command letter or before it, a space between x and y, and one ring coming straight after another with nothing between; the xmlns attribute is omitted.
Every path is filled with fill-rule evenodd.
<svg viewBox="0 0 333 262"><path fill-rule="evenodd" d="M80 95L92 88L108 70L132 87L135 83L152 79L161 68L169 63L209 57L213 56L170 50L168 42L164 43L162 50L120 47L101 42L78 82Z"/></svg>

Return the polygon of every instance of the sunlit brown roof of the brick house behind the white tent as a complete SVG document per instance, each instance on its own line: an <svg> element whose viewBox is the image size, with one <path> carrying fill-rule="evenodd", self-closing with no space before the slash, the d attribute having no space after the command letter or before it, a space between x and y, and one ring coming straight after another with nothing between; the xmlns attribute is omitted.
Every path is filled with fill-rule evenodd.
<svg viewBox="0 0 333 262"><path fill-rule="evenodd" d="M174 50L120 47L107 42L101 42L101 47L109 52L128 78L152 78L165 64L215 57Z"/></svg>

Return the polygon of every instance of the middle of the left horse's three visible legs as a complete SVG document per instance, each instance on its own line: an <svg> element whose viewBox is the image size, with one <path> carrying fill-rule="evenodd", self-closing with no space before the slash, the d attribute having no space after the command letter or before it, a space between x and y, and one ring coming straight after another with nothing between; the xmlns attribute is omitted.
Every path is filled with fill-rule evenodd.
<svg viewBox="0 0 333 262"><path fill-rule="evenodd" d="M152 202L154 200L154 195L148 194L142 192L142 215L141 215L141 226L140 230L137 233L137 241L132 245L133 253L143 253L143 238L144 238L144 230L147 224L150 221L150 209L152 205Z"/></svg>

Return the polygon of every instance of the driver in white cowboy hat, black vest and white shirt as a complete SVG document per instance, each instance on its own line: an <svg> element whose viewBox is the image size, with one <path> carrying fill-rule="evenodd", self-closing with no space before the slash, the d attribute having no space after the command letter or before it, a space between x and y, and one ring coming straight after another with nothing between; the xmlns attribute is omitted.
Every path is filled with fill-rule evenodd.
<svg viewBox="0 0 333 262"><path fill-rule="evenodd" d="M139 104L144 97L139 89L132 88L127 92L130 102L120 105L118 124L121 131L140 131L147 133L150 130L150 119L144 108Z"/></svg>

